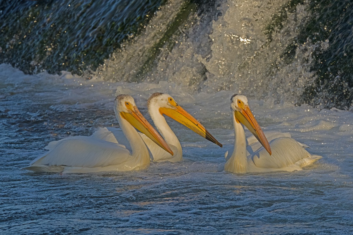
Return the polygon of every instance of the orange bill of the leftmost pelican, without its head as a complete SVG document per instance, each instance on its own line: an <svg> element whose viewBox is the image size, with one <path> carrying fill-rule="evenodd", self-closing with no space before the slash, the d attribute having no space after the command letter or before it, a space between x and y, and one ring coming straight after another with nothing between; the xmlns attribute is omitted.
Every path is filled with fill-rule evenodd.
<svg viewBox="0 0 353 235"><path fill-rule="evenodd" d="M127 109L131 111L120 112L121 117L126 119L134 128L141 131L143 134L148 136L152 141L158 144L162 149L166 150L168 153L172 154L173 151L170 149L166 141L158 134L158 132L152 127L152 125L146 120L146 118L140 113L136 106L126 105Z"/></svg>

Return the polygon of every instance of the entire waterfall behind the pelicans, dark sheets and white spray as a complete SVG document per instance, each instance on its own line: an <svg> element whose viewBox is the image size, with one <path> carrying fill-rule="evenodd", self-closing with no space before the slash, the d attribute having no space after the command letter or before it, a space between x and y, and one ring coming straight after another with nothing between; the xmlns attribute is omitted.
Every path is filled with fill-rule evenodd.
<svg viewBox="0 0 353 235"><path fill-rule="evenodd" d="M349 1L2 1L0 61L350 109ZM55 10L54 10L55 9Z"/></svg>

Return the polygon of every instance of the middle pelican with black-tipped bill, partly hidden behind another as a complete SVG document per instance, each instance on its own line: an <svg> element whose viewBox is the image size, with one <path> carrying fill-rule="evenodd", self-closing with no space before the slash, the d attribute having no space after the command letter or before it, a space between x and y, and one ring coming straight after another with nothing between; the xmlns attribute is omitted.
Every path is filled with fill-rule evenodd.
<svg viewBox="0 0 353 235"><path fill-rule="evenodd" d="M178 162L183 159L183 151L181 150L181 145L178 137L174 134L170 126L167 124L166 119L163 115L167 115L173 118L177 122L185 125L191 130L195 131L197 134L206 138L207 140L222 147L222 144L218 142L204 126L199 123L190 113L186 112L180 105L175 102L173 97L169 94L163 93L153 93L147 100L148 112L156 126L160 131L164 140L168 143L169 147L173 150L174 155L170 155L160 147L158 147L154 142L152 142L147 136L141 134L142 139L148 146L151 159L156 162L170 161ZM115 143L120 143L121 133L116 128L104 128L98 129L92 136L106 141L111 141ZM162 150L162 151L161 151Z"/></svg>

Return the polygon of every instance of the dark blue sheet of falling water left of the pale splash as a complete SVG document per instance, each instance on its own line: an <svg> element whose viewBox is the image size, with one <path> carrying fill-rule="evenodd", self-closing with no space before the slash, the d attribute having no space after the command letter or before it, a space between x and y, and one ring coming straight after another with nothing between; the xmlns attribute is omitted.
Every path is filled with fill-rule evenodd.
<svg viewBox="0 0 353 235"><path fill-rule="evenodd" d="M162 2L0 1L0 61L26 73L95 70Z"/></svg>

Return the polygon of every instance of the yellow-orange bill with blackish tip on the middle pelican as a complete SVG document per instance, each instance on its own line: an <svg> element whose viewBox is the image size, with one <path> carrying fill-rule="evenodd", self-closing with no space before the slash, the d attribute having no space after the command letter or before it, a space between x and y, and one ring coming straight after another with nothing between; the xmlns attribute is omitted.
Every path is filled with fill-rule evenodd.
<svg viewBox="0 0 353 235"><path fill-rule="evenodd" d="M197 134L201 135L205 139L219 145L222 147L222 144L213 137L206 128L198 122L190 113L186 112L182 107L180 107L174 100L169 99L169 103L173 106L172 108L161 107L159 112L163 115L167 115L170 118L173 118L177 122L185 125L187 128L195 131Z"/></svg>

